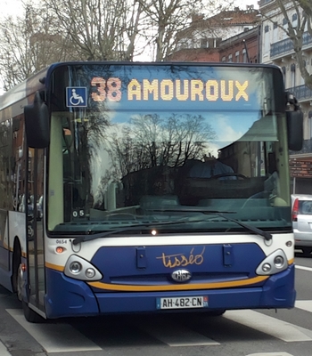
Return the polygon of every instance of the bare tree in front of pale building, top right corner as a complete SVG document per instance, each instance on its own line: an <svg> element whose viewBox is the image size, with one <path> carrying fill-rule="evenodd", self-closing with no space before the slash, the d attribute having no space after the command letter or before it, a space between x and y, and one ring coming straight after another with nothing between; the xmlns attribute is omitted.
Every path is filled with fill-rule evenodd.
<svg viewBox="0 0 312 356"><path fill-rule="evenodd" d="M293 25L289 17L289 12L287 12L286 4L288 3L292 4L295 12L297 13L298 21L296 25ZM280 8L284 19L286 19L288 23L287 28L280 28L283 28L287 36L290 37L293 44L293 50L296 54L296 60L299 64L301 77L303 77L308 88L312 90L312 73L308 72L302 53L302 45L306 28L308 28L309 35L312 36L312 3L310 0L276 0L276 4Z"/></svg>

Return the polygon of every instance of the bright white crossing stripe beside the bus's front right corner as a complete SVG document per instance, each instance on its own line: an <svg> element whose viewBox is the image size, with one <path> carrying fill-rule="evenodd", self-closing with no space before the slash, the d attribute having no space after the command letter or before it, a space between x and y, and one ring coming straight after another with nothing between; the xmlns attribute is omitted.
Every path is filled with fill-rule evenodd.
<svg viewBox="0 0 312 356"><path fill-rule="evenodd" d="M250 310L227 311L224 318L238 322L246 327L256 329L274 336L287 343L312 341L312 331L297 325Z"/></svg>

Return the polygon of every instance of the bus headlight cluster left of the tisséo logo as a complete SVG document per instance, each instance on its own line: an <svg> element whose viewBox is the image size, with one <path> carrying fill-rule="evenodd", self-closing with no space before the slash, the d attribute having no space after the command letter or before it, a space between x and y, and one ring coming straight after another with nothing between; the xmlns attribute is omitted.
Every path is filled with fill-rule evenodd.
<svg viewBox="0 0 312 356"><path fill-rule="evenodd" d="M65 264L64 274L67 277L79 280L100 280L103 275L92 263L78 255L71 255Z"/></svg>

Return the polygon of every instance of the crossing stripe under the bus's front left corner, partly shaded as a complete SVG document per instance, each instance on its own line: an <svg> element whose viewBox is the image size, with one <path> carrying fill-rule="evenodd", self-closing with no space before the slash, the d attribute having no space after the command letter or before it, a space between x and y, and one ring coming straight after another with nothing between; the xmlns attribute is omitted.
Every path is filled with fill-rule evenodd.
<svg viewBox="0 0 312 356"><path fill-rule="evenodd" d="M32 324L25 320L19 309L6 309L25 330L33 336L46 352L102 351L78 330L69 324ZM0 352L0 355L3 354Z"/></svg>

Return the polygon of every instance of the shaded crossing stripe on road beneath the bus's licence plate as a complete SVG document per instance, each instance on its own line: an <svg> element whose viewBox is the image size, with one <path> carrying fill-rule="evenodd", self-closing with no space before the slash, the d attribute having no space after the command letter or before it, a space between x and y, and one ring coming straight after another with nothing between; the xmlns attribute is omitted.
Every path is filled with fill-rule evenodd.
<svg viewBox="0 0 312 356"><path fill-rule="evenodd" d="M140 328L139 326L137 327ZM161 326L148 325L141 328L141 330L169 346L219 345L217 341L209 339L209 337L174 323L167 322Z"/></svg>

